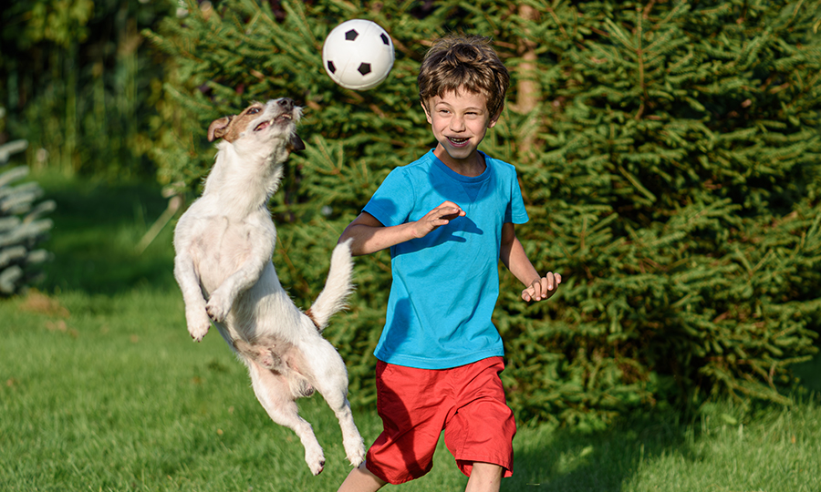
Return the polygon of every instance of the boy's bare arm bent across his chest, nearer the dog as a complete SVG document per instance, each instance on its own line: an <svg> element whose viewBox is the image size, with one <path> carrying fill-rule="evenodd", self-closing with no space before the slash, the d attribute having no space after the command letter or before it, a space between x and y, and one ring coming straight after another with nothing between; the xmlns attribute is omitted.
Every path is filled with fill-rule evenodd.
<svg viewBox="0 0 821 492"><path fill-rule="evenodd" d="M400 242L422 238L429 232L447 224L449 221L463 216L464 210L452 201L442 202L442 205L429 211L420 220L405 222L398 226L385 227L368 212L362 212L354 219L342 235L339 242L352 239L350 253L354 256L369 254L390 248Z"/></svg>

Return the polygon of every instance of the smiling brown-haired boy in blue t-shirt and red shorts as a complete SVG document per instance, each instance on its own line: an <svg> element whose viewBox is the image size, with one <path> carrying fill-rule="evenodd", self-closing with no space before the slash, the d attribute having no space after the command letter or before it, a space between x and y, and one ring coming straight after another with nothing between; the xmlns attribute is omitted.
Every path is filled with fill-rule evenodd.
<svg viewBox="0 0 821 492"><path fill-rule="evenodd" d="M516 239L527 218L513 166L477 150L502 112L507 69L482 37L449 36L418 78L436 148L394 169L339 241L354 255L390 248L393 282L375 355L384 430L340 491L377 490L431 469L442 429L465 490L499 490L513 473L515 422L499 374L502 339L491 316L498 261L526 301L561 282L542 277Z"/></svg>

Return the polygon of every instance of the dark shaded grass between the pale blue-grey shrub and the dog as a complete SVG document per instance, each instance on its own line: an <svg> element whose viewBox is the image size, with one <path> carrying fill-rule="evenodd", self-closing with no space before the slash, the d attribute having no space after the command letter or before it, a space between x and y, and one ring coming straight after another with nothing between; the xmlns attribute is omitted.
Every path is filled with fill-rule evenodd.
<svg viewBox="0 0 821 492"><path fill-rule="evenodd" d="M174 221L143 252L136 246L167 205L148 184L107 184L58 176L38 176L46 200L57 210L50 239L42 247L54 254L38 285L48 292L79 290L90 294L128 291L140 284L175 288Z"/></svg>

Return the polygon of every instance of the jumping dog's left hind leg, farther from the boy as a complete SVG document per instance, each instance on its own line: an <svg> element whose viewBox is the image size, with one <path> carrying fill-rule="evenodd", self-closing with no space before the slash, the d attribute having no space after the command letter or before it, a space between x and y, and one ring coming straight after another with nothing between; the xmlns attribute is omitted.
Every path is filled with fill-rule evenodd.
<svg viewBox="0 0 821 492"><path fill-rule="evenodd" d="M305 447L305 462L311 473L318 475L325 467L325 455L314 429L299 416L296 402L285 377L274 374L254 360L246 360L256 399L276 424L285 425L296 433Z"/></svg>

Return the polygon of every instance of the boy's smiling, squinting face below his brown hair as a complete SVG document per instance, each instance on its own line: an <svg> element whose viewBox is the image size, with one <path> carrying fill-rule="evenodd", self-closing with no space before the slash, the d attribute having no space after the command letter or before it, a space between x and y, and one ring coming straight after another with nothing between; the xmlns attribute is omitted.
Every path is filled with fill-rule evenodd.
<svg viewBox="0 0 821 492"><path fill-rule="evenodd" d="M422 108L439 142L433 150L436 157L451 167L473 165L479 143L499 118L488 112L487 97L462 90L431 97L425 103Z"/></svg>

